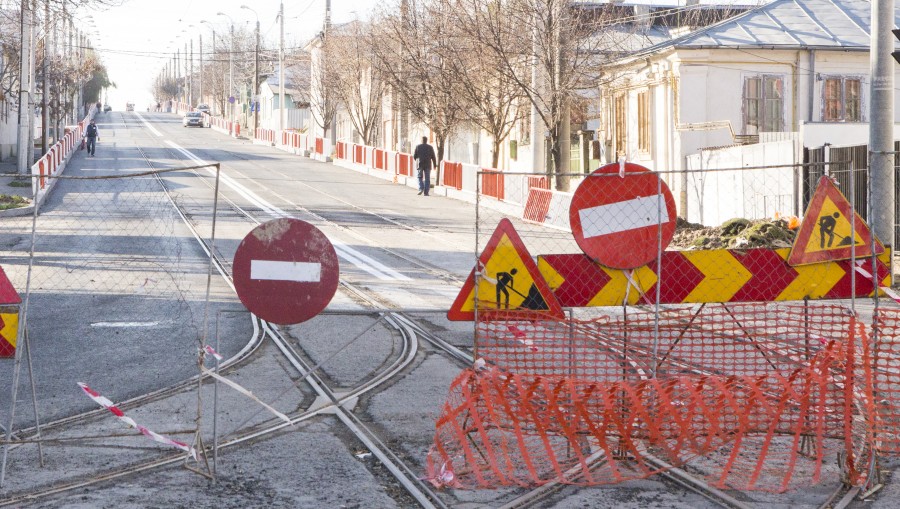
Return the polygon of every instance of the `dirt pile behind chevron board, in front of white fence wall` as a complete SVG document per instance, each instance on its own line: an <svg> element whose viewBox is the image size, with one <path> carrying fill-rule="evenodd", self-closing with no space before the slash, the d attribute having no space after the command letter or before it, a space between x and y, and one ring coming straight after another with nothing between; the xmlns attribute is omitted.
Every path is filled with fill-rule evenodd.
<svg viewBox="0 0 900 509"><path fill-rule="evenodd" d="M722 226L703 226L678 218L675 237L668 249L750 249L765 247L777 249L791 247L797 236L796 229L788 227L786 219L735 218ZM791 225L794 226L794 225Z"/></svg>

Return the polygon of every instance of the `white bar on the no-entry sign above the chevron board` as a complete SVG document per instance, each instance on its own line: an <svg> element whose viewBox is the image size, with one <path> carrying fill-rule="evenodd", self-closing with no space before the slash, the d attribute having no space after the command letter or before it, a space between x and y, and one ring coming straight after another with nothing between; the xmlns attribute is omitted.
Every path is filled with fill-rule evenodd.
<svg viewBox="0 0 900 509"><path fill-rule="evenodd" d="M664 196L654 194L578 211L584 238L619 233L669 222Z"/></svg>

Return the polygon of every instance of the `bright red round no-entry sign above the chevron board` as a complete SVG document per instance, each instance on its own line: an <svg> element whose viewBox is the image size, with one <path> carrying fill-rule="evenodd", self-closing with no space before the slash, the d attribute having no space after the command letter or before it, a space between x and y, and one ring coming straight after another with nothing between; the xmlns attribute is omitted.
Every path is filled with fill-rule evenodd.
<svg viewBox="0 0 900 509"><path fill-rule="evenodd" d="M622 171L624 170L624 171ZM582 251L614 269L656 259L675 235L675 199L656 173L633 163L608 164L586 177L572 195L569 224Z"/></svg>

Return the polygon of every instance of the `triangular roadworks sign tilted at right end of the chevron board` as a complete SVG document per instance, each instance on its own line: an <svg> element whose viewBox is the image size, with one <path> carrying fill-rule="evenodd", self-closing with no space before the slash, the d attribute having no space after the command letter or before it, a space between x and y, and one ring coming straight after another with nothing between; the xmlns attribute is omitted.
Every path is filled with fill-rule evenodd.
<svg viewBox="0 0 900 509"><path fill-rule="evenodd" d="M883 252L884 245L876 238L875 253ZM788 263L807 265L847 260L851 255L857 258L872 255L872 232L859 214L853 212L850 202L834 182L823 176L806 208Z"/></svg>

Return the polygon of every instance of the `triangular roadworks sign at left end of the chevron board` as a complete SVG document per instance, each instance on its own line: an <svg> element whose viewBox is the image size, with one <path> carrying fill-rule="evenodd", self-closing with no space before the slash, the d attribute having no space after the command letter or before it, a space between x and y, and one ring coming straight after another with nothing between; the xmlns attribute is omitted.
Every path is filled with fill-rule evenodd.
<svg viewBox="0 0 900 509"><path fill-rule="evenodd" d="M479 312L527 309L546 311L555 318L565 317L562 306L541 277L534 259L509 219L500 221L478 260L481 274L477 292L475 269L472 269L450 306L447 319L474 320L476 298Z"/></svg>

